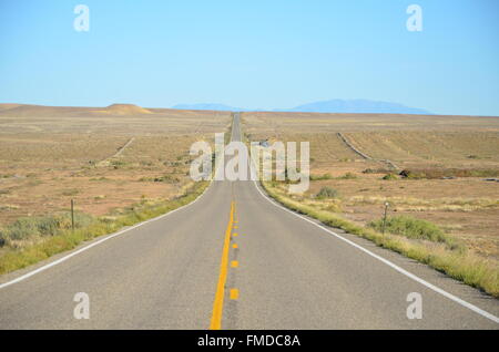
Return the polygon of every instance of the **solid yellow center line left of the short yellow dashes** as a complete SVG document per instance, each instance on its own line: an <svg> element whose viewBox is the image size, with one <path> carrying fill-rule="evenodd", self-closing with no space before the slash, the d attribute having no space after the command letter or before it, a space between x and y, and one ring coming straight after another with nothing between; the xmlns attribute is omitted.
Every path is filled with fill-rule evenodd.
<svg viewBox="0 0 499 352"><path fill-rule="evenodd" d="M227 229L225 230L224 248L222 250L222 261L220 263L218 283L216 286L215 301L213 302L213 313L210 330L222 329L222 313L224 309L225 282L227 280L228 247L231 242L231 231L234 221L235 203L231 203L231 215L228 217ZM233 293L231 290L231 299ZM236 294L237 296L237 294Z"/></svg>

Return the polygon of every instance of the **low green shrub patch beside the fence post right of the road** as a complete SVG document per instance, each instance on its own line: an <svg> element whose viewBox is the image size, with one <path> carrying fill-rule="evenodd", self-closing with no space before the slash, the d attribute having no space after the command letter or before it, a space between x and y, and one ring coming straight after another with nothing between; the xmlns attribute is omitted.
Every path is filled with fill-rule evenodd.
<svg viewBox="0 0 499 352"><path fill-rule="evenodd" d="M373 220L367 226L380 231L383 229L383 219ZM388 217L386 219L385 230L394 235L401 235L413 239L446 244L450 249L462 248L461 246L458 246L455 238L446 235L437 225L410 216L403 215Z"/></svg>

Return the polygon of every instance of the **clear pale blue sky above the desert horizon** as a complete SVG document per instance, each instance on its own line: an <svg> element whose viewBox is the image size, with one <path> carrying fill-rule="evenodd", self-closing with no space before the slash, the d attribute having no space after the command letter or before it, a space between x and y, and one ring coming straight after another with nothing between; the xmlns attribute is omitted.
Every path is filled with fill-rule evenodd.
<svg viewBox="0 0 499 352"><path fill-rule="evenodd" d="M73 9L90 8L77 32ZM406 29L409 4L422 32ZM497 0L0 0L0 102L499 115Z"/></svg>

